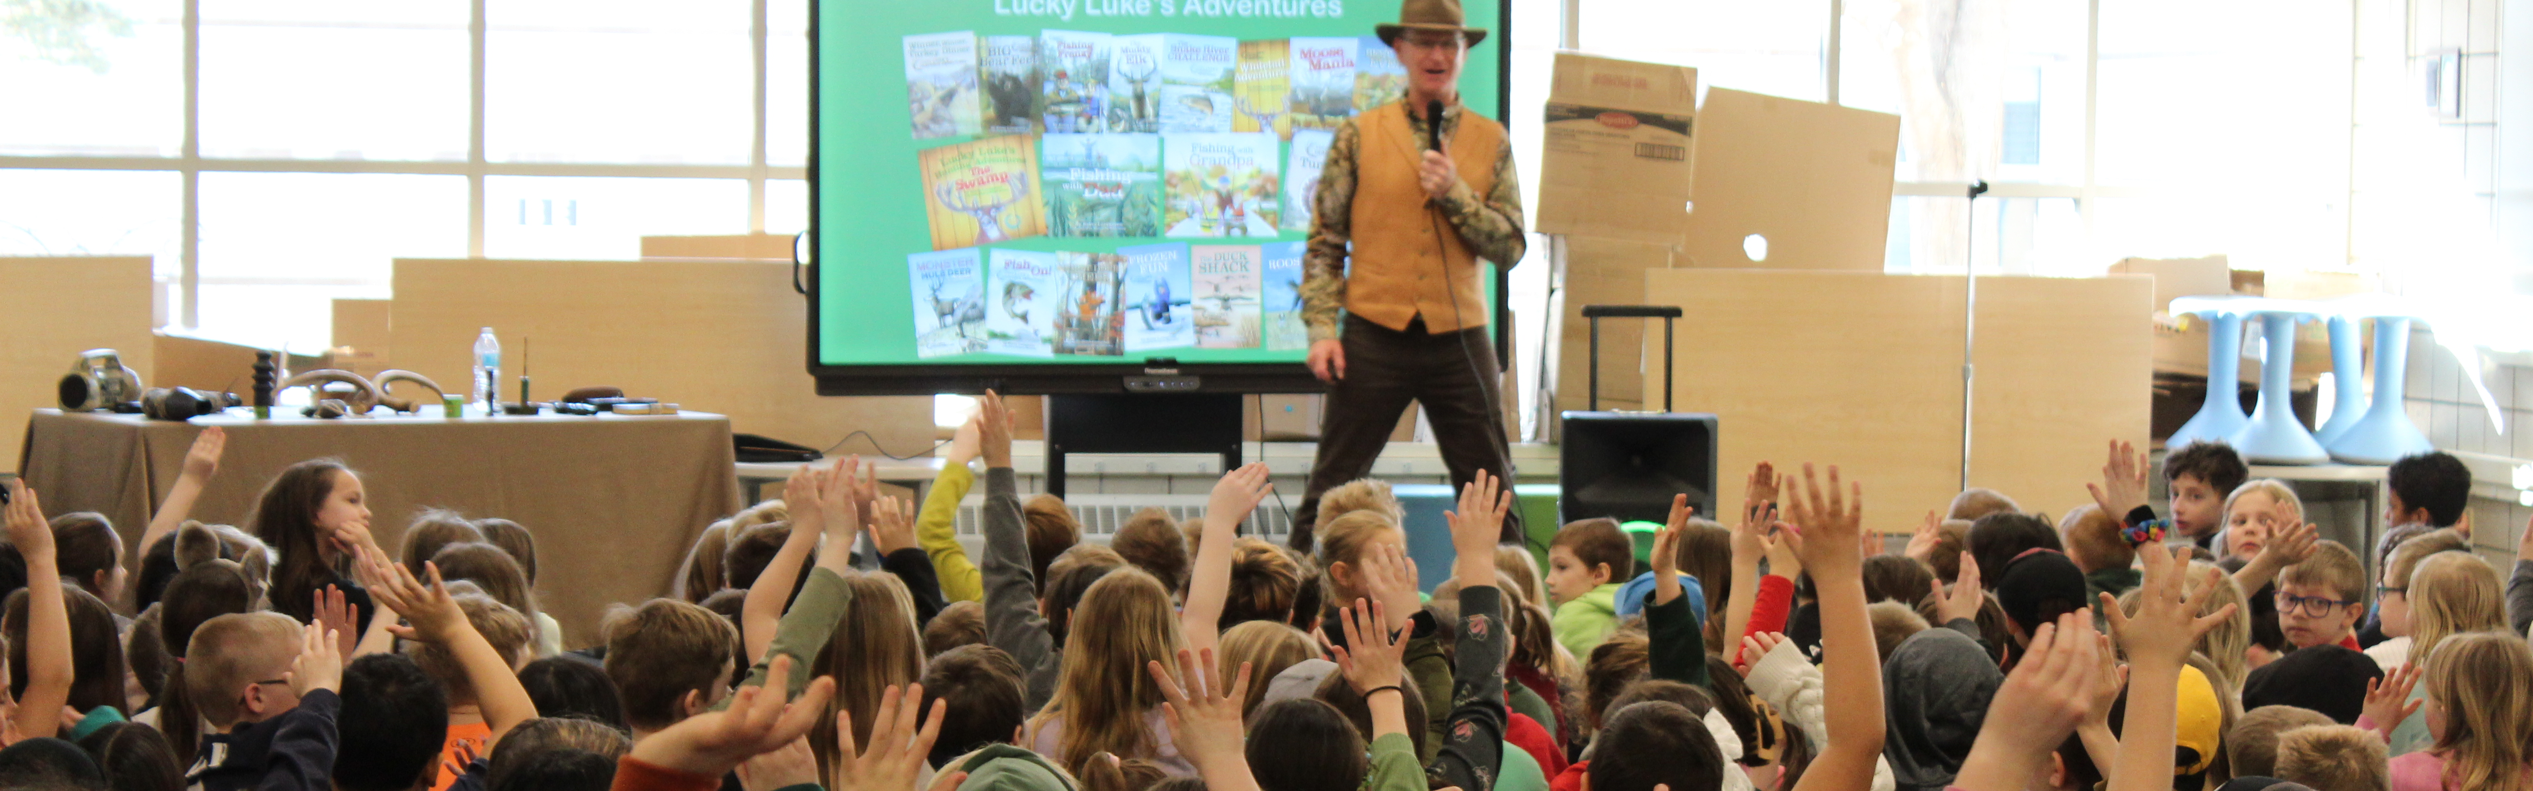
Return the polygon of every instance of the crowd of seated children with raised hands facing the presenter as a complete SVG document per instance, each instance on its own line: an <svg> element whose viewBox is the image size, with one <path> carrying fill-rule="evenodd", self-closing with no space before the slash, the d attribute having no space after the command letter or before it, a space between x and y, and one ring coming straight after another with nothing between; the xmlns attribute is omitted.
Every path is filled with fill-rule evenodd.
<svg viewBox="0 0 2533 791"><path fill-rule="evenodd" d="M2533 560L2472 550L2444 454L2391 466L2373 548L2224 444L2166 456L2161 512L2113 444L2062 520L1971 489L1900 550L1839 466L1760 464L1730 522L1679 494L1646 550L1497 545L1479 474L1421 593L1373 479L1310 550L1241 535L1261 464L1084 543L988 393L922 505L803 466L575 644L529 527L428 510L388 553L327 459L193 522L223 449L137 563L8 492L0 788L2533 791Z"/></svg>

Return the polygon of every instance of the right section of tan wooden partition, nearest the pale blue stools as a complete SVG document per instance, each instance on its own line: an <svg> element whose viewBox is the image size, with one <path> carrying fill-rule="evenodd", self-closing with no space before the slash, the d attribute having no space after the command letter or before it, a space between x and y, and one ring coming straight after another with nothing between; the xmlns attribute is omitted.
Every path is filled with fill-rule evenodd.
<svg viewBox="0 0 2533 791"><path fill-rule="evenodd" d="M2052 517L2092 502L2102 444L2145 446L2153 312L2145 276L1978 279L1971 484Z"/></svg>

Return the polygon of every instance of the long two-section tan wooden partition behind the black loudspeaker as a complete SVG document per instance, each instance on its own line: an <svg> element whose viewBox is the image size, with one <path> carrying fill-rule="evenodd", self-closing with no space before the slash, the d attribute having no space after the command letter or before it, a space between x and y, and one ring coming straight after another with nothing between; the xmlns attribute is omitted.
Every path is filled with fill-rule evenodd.
<svg viewBox="0 0 2533 791"><path fill-rule="evenodd" d="M2145 441L2143 279L1981 279L1976 487L2064 512L2107 439ZM1646 302L1679 304L1679 411L1717 413L1720 512L1760 459L1839 464L1867 527L1912 530L1961 489L1958 276L1664 269ZM1659 350L1649 350L1659 352ZM1659 380L1646 383L1659 401Z"/></svg>

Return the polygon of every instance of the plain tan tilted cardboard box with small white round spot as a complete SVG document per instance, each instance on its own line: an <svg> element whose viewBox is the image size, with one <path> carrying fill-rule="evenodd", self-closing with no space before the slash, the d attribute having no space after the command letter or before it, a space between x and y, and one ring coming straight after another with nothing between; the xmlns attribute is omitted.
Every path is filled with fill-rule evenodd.
<svg viewBox="0 0 2533 791"><path fill-rule="evenodd" d="M1895 114L1710 89L1677 266L1882 271L1897 157Z"/></svg>

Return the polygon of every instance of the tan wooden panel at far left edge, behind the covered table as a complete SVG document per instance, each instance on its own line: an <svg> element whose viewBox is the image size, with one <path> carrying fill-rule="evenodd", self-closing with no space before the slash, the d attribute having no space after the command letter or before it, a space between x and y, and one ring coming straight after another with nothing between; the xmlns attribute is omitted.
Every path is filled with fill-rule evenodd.
<svg viewBox="0 0 2533 791"><path fill-rule="evenodd" d="M18 469L25 418L61 406L79 352L117 350L149 380L149 256L0 256L0 466Z"/></svg>

